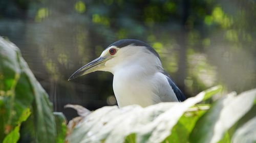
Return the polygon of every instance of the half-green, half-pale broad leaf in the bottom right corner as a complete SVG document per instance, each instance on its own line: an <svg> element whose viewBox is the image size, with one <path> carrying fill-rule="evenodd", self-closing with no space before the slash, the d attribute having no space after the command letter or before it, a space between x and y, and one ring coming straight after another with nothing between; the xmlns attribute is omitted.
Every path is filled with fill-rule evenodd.
<svg viewBox="0 0 256 143"><path fill-rule="evenodd" d="M218 142L253 106L256 90L217 101L196 123L190 142Z"/></svg>

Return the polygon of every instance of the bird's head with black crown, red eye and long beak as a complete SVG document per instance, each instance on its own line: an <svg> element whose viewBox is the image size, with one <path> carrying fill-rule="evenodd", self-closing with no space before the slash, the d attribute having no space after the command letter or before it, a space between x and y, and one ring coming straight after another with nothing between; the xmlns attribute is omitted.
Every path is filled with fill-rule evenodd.
<svg viewBox="0 0 256 143"><path fill-rule="evenodd" d="M161 65L158 53L151 46L139 40L123 39L108 46L99 58L78 69L69 80L94 71L114 73L117 67L129 66L139 61L150 63L152 60Z"/></svg>

